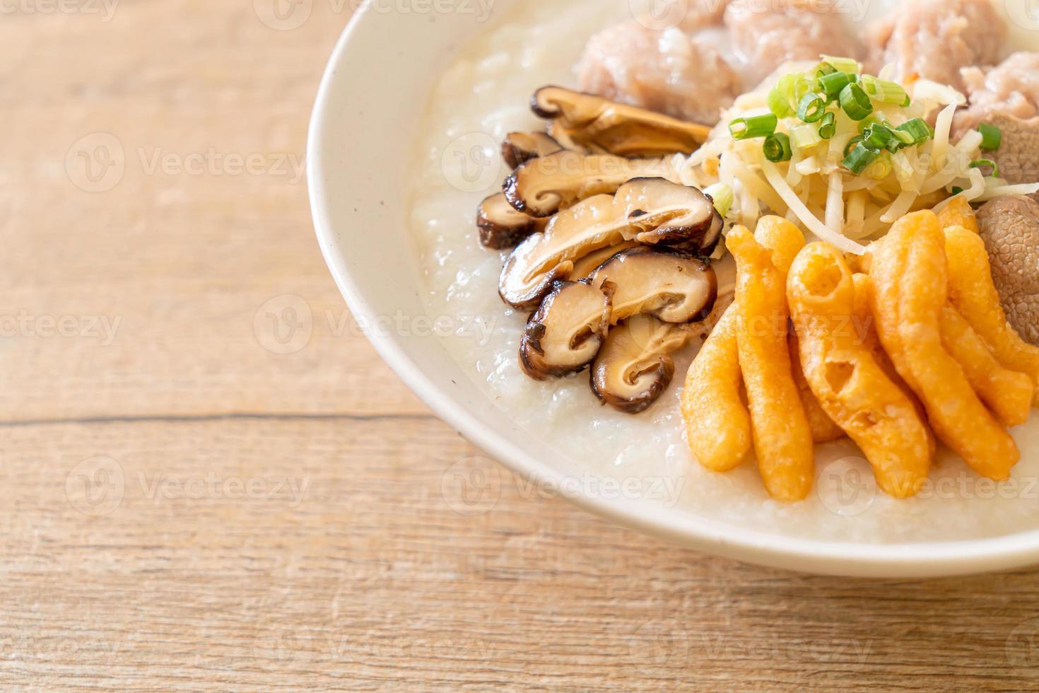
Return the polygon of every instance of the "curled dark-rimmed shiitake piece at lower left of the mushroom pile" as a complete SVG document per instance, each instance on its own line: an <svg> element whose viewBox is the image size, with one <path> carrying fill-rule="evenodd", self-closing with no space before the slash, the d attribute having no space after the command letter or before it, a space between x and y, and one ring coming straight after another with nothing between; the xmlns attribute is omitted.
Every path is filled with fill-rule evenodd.
<svg viewBox="0 0 1039 693"><path fill-rule="evenodd" d="M527 321L521 367L537 380L584 369L603 346L609 320L609 294L588 282L557 282Z"/></svg>

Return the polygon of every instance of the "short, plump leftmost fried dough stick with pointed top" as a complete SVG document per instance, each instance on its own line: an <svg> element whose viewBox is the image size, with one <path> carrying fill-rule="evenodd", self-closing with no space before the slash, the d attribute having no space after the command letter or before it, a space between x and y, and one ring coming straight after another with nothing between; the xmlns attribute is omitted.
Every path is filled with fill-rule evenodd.
<svg viewBox="0 0 1039 693"><path fill-rule="evenodd" d="M740 395L737 319L730 305L689 367L682 391L689 448L714 472L731 470L750 452L750 415Z"/></svg>

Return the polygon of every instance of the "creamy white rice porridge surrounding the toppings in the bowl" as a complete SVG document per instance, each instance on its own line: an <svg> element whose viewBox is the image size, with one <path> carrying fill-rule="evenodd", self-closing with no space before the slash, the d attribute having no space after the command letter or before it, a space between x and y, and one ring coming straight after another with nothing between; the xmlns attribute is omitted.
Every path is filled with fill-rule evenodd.
<svg viewBox="0 0 1039 693"><path fill-rule="evenodd" d="M445 339L457 363L532 436L591 475L667 480L660 502L691 516L861 542L968 539L1039 527L1035 421L1012 431L1022 459L1009 482L981 478L942 451L924 490L896 500L876 488L869 464L845 439L817 447L815 489L784 504L769 498L752 461L717 474L692 459L678 398L695 345L675 356L675 375L661 400L637 416L601 406L587 374L540 382L524 375L517 350L528 314L499 297L507 251L480 245L475 210L509 172L499 156L505 135L543 127L530 111L531 95L547 84L575 86L572 66L587 37L629 18L623 0L525 2L463 47L432 89L406 189L429 315L477 318L478 328Z"/></svg>

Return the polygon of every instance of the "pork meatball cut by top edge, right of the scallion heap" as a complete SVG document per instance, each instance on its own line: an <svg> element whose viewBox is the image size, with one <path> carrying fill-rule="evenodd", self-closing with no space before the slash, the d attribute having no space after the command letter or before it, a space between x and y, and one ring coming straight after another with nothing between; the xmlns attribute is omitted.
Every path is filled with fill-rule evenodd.
<svg viewBox="0 0 1039 693"><path fill-rule="evenodd" d="M962 90L962 68L1000 59L1006 26L989 0L917 0L871 33L873 71L891 63L897 81L929 79Z"/></svg>

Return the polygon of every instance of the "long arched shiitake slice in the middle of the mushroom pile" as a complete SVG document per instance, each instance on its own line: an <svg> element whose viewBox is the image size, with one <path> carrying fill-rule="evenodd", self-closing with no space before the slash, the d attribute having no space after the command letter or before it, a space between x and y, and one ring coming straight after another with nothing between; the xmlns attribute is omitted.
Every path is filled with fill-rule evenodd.
<svg viewBox="0 0 1039 693"><path fill-rule="evenodd" d="M678 205L683 197L685 205ZM636 179L622 185L616 196L595 195L559 212L542 233L520 243L502 268L499 293L514 308L532 308L553 282L580 276L574 274L574 263L595 250L623 241L713 247L717 237L708 241L720 235L718 221L710 199L696 188Z"/></svg>

